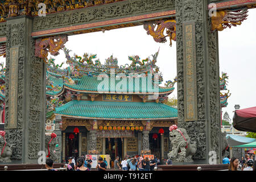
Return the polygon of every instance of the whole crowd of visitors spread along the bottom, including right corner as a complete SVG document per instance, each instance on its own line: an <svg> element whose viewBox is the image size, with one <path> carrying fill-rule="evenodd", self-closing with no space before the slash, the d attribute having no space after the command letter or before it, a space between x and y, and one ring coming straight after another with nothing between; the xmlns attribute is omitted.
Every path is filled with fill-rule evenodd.
<svg viewBox="0 0 256 182"><path fill-rule="evenodd" d="M223 164L229 164L229 171L255 171L256 160L255 156L246 155L245 158L242 157L241 160L238 158L224 158L222 160ZM122 161L117 157L114 160L114 169L122 170L122 171L154 171L155 167L160 164L160 160L158 158L148 158L147 156L127 156ZM167 160L166 165L172 165L172 161L170 159ZM96 169L98 171L106 171L108 167L108 163L104 158L98 158L98 164ZM53 169L53 160L50 158L46 159L46 168L49 171L55 171ZM85 156L81 156L77 158L75 162L75 158L69 157L67 164L67 171L90 171L92 168L92 160L89 158L85 158Z"/></svg>

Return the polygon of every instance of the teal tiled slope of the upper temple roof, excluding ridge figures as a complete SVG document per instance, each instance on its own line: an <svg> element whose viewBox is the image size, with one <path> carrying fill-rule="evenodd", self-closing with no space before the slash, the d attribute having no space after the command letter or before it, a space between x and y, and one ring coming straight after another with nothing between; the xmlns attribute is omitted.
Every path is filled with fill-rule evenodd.
<svg viewBox="0 0 256 182"><path fill-rule="evenodd" d="M129 85L129 79L132 80L132 84ZM144 80L143 80L144 79ZM47 90L46 94L49 96L56 96L61 94L64 88L67 88L69 90L73 90L76 92L81 93L126 93L126 94L154 94L154 93L172 93L174 91L174 87L161 87L159 86L159 90L154 90L157 87L154 84L147 84L148 77L144 78L127 78L124 82L123 86L126 85L126 88L121 87L121 89L118 89L120 84L122 84L122 80L115 80L114 83L111 81L111 78L102 78L102 80L98 80L97 77L90 77L87 75L82 76L81 78L73 78L73 80L76 82L74 84L70 84L68 82L64 82L62 78L56 78L56 77L49 77L49 81L52 82L53 87L56 89L49 89ZM106 81L106 85L104 85L102 82ZM139 84L135 84L135 83ZM145 84L143 84L146 82ZM115 84L115 85L113 85ZM132 85L132 86L131 86ZM47 86L48 88L51 88L51 86ZM59 89L57 88L59 87ZM112 89L114 88L114 90ZM154 92L155 91L155 92Z"/></svg>

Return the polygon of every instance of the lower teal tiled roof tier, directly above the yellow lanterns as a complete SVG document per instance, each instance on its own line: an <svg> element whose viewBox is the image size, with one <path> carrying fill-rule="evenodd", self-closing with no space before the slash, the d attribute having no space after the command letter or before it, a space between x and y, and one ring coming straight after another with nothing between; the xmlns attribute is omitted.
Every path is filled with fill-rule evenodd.
<svg viewBox="0 0 256 182"><path fill-rule="evenodd" d="M56 115L92 119L175 119L177 109L155 102L70 101L55 108Z"/></svg>

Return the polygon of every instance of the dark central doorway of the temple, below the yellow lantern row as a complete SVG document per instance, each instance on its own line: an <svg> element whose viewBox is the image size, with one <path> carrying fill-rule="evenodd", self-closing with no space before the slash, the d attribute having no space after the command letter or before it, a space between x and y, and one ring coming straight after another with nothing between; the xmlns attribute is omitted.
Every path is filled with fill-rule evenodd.
<svg viewBox="0 0 256 182"><path fill-rule="evenodd" d="M111 167L114 167L114 160L119 157L123 158L123 143L121 138L105 138L106 140L106 154L110 155Z"/></svg>

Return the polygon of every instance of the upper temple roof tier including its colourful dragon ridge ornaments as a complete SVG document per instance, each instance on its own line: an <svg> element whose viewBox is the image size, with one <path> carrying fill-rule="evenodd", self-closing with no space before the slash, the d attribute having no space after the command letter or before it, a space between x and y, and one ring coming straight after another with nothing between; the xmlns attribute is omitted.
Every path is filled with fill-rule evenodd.
<svg viewBox="0 0 256 182"><path fill-rule="evenodd" d="M121 66L118 66L118 60L113 55L106 59L105 64L101 64L96 54L84 53L84 58L77 55L71 57L70 50L63 50L69 67L61 69L63 64L55 65L53 58L48 60L48 96L60 96L64 89L81 93L126 94L171 94L174 91L176 78L174 82L167 81L165 87L159 86L163 81L162 73L155 64L159 50L151 55L152 60L150 57L141 60L139 56L128 56L131 64ZM93 62L93 59L97 60ZM126 79L123 80L121 76ZM155 80L155 76L158 76L158 80Z"/></svg>

